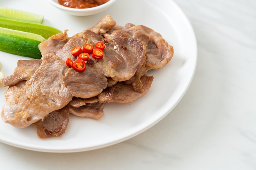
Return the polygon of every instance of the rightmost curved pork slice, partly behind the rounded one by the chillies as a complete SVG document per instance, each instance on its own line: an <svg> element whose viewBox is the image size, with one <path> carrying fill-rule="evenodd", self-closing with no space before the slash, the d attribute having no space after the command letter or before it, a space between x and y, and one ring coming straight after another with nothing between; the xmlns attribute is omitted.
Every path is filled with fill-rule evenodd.
<svg viewBox="0 0 256 170"><path fill-rule="evenodd" d="M132 38L146 45L145 63L136 70L135 76L126 81L127 84L132 84L133 89L137 92L143 92L141 76L144 76L148 70L163 67L173 57L173 47L163 39L162 35L146 26L126 24L122 27L116 25L111 31L104 34L104 37L106 39Z"/></svg>

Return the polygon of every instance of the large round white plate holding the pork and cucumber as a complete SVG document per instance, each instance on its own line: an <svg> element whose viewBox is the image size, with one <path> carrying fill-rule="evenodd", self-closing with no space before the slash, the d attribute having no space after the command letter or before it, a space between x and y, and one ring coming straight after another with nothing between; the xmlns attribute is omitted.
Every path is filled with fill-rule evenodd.
<svg viewBox="0 0 256 170"><path fill-rule="evenodd" d="M161 3L159 3L161 2ZM31 5L33 4L33 8ZM69 36L90 28L104 15L110 14L117 24L142 24L153 28L174 48L174 57L163 68L150 71L154 75L149 92L130 105L106 104L100 120L70 116L66 132L60 138L39 139L33 126L14 128L0 120L0 141L24 148L52 153L70 153L103 148L134 137L162 120L186 93L195 72L197 45L193 28L182 10L172 0L117 0L115 4L88 17L75 17L56 10L45 0L8 0L0 6L38 13L45 16L44 24L60 30L69 29ZM2 72L13 73L18 59L28 59L0 52ZM0 108L5 101L0 88Z"/></svg>

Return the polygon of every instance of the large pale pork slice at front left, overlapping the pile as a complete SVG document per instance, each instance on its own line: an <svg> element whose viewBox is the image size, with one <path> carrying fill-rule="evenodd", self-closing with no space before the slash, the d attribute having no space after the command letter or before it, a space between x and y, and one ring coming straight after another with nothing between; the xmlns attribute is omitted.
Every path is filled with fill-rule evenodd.
<svg viewBox="0 0 256 170"><path fill-rule="evenodd" d="M1 113L4 122L24 128L65 107L72 100L62 81L66 71L65 61L54 54L44 55L42 64L25 85L9 87L5 92Z"/></svg>

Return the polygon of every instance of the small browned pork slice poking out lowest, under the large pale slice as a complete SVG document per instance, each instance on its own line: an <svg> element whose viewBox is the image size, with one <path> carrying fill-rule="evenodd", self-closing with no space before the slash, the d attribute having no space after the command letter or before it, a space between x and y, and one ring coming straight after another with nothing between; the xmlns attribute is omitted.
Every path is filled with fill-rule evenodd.
<svg viewBox="0 0 256 170"><path fill-rule="evenodd" d="M62 109L49 113L43 120L38 120L33 125L40 138L61 137L67 129L69 121L69 109Z"/></svg>

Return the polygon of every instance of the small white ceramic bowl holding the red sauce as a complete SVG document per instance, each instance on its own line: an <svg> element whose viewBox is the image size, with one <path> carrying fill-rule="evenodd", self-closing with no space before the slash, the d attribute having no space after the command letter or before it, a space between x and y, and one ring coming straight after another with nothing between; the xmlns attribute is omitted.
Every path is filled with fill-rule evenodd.
<svg viewBox="0 0 256 170"><path fill-rule="evenodd" d="M76 16L88 16L88 15L94 15L94 14L100 13L101 11L108 9L108 7L110 7L115 1L116 0L109 0L105 4L99 5L97 7L75 9L75 8L64 7L63 5L58 3L58 0L48 0L48 2L52 4L54 7L70 15L76 15Z"/></svg>

